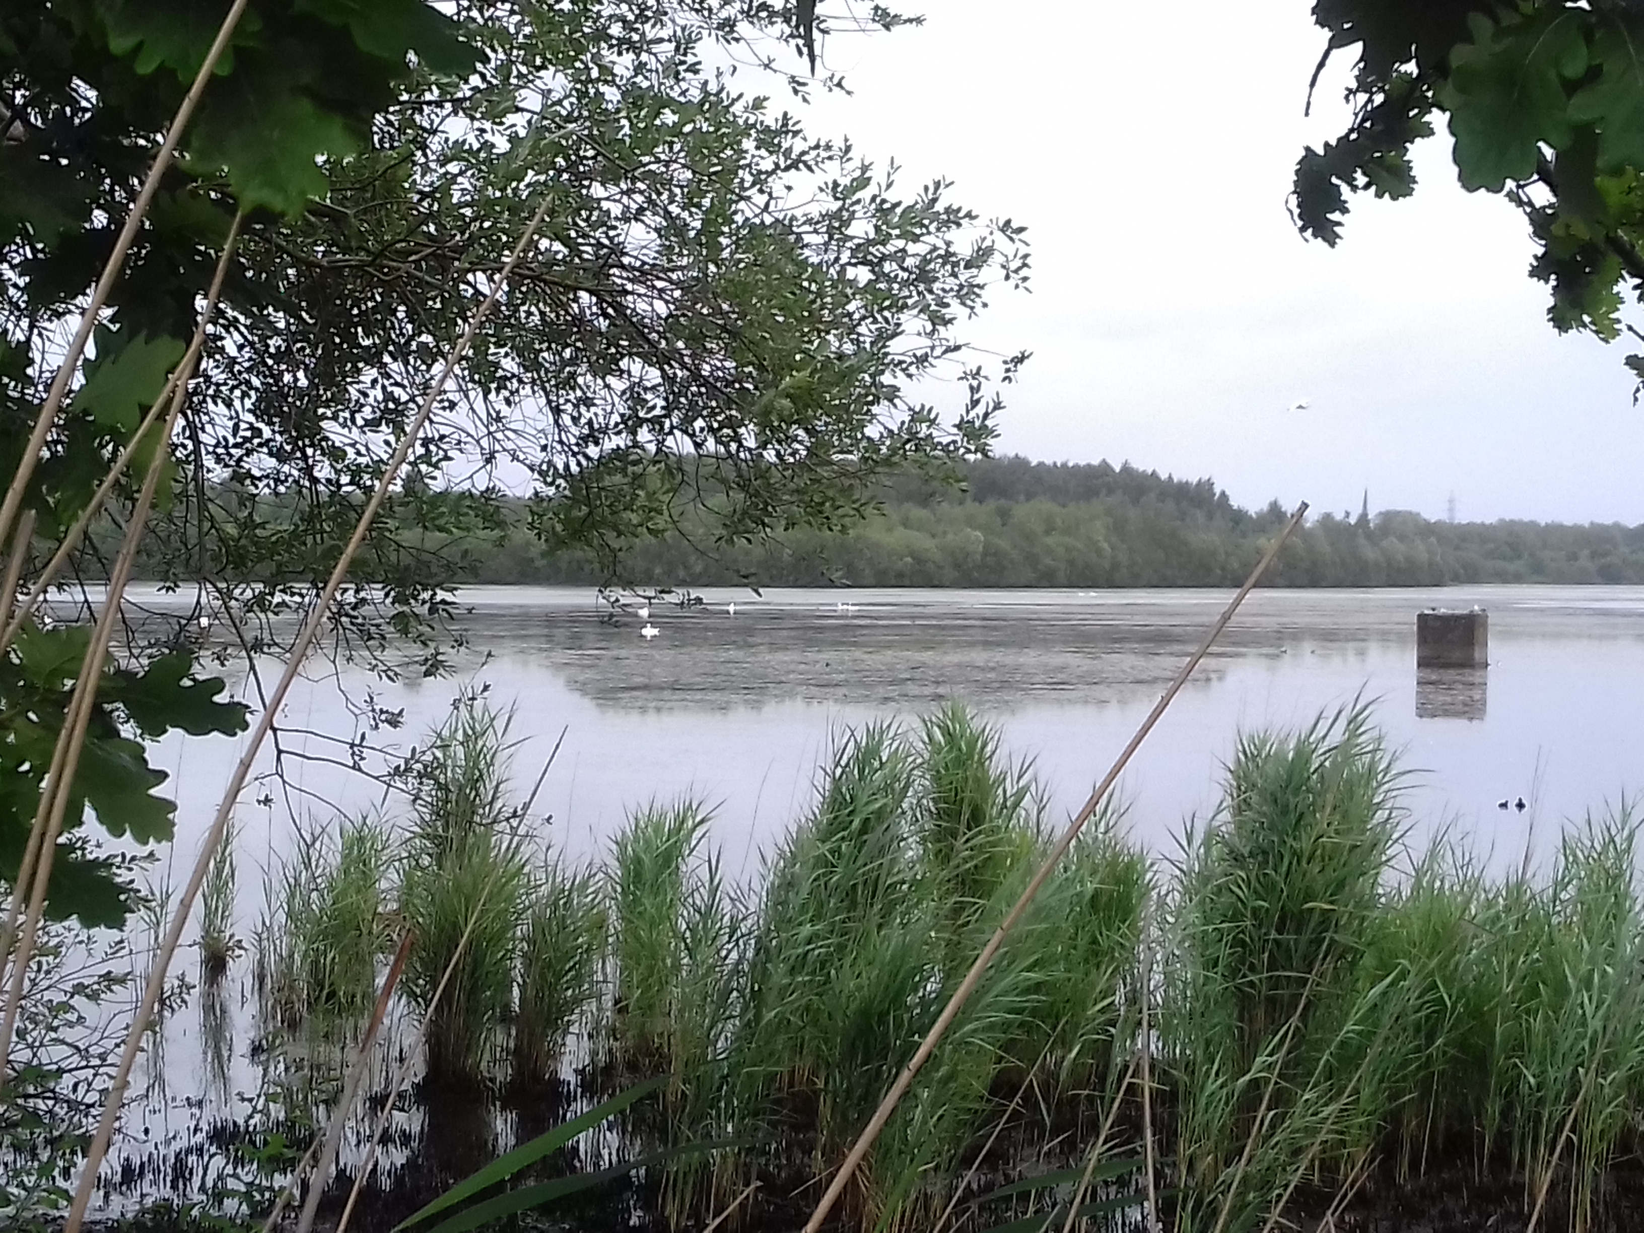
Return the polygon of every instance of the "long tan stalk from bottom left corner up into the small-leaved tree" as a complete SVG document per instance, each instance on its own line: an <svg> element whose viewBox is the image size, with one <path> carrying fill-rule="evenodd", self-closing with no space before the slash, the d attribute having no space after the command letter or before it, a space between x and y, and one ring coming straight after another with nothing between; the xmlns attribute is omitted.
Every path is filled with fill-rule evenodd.
<svg viewBox="0 0 1644 1233"><path fill-rule="evenodd" d="M395 452L390 455L386 465L383 467L381 478L376 482L376 488L372 492L370 500L365 503L365 510L360 511L360 518L353 526L353 534L349 536L349 543L344 546L342 554L337 557L337 566L332 569L330 577L326 580L324 589L307 620L302 623L302 630L298 633L296 641L291 644L291 656L286 663L284 671L279 674L279 681L275 684L273 692L263 707L263 713L252 730L247 740L245 751L240 755L240 761L235 763L233 773L229 779L229 786L224 789L222 802L217 806L217 817L212 820L210 830L206 832L206 842L201 845L201 853L194 861L194 871L189 875L187 884L182 888L182 894L178 899L178 906L171 914L171 924L166 929L166 937L159 947L159 955L150 972L148 983L143 988L143 1000L136 1006L136 1013L132 1019L132 1028L125 1037L125 1051L120 1055L120 1064L115 1069L113 1080L109 1087L109 1095L104 1101L102 1118L97 1123L97 1133L92 1136L90 1148L85 1152L85 1162L81 1167L79 1187L74 1194L74 1203L69 1208L69 1217L62 1225L62 1233L81 1233L81 1226L85 1221L85 1208L90 1205L92 1189L97 1182L97 1169L102 1167L102 1159L109 1151L109 1139L113 1136L113 1124L120 1116L120 1101L125 1097L125 1088L132 1082L132 1067L136 1064L136 1055L143 1047L143 1036L148 1031L148 1021L155 1013L155 1006L159 1003L159 995L164 988L166 970L171 967L171 958L176 954L178 945L182 940L182 929L187 924L189 912L194 907L194 899L199 896L201 884L206 881L206 871L210 868L210 860L217 852L217 845L222 842L222 832L229 825L229 817L233 812L235 802L240 799L240 791L245 787L245 781L252 774L252 768L256 761L256 755L261 750L263 741L268 738L270 728L275 725L275 715L278 713L286 694L291 692L291 684L296 681L298 672L302 667L302 661L307 658L309 649L314 646L314 640L319 636L319 626L326 620L326 613L330 610L332 602L337 598L337 592L342 589L342 582L349 574L349 566L353 564L353 557L358 554L360 546L365 543L365 536L372 529L372 523L376 518L376 511L381 508L383 501L388 500L388 490L393 487L395 478L399 475L399 469L404 465L411 454L411 447L416 444L418 434L427 423L429 416L434 413L434 404L439 401L446 383L455 372L462 357L467 355L469 347L473 342L473 335L478 332L485 317L490 314L492 306L501 296L503 288L508 284L508 278L513 275L515 266L520 265L520 258L524 256L526 247L531 243L531 237L536 235L536 229L543 224L547 215L547 207L552 202L551 196L544 196L543 202L538 206L531 220L526 224L524 232L520 235L520 242L515 245L513 252L508 255L508 261L503 265L501 271L496 275L496 281L487 293L485 299L473 311L469 319L462 337L452 345L446 357L444 365L441 365L439 375L429 386L423 404L418 408L411 423L406 424L399 436Z"/></svg>

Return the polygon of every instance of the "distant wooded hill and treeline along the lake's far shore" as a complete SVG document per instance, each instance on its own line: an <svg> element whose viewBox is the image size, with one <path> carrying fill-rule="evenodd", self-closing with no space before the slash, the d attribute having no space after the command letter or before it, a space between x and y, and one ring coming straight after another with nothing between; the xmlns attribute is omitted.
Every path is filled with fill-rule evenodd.
<svg viewBox="0 0 1644 1233"><path fill-rule="evenodd" d="M626 580L700 587L1230 587L1286 520L1281 505L1235 506L1212 480L1134 467L1021 457L965 467L960 492L893 485L883 513L847 534L796 533L781 544L704 552L674 536L633 552ZM544 557L523 533L460 552L469 582L595 584L590 562ZM1644 584L1644 526L1435 523L1407 511L1322 513L1271 580L1289 587L1414 587L1450 582Z"/></svg>

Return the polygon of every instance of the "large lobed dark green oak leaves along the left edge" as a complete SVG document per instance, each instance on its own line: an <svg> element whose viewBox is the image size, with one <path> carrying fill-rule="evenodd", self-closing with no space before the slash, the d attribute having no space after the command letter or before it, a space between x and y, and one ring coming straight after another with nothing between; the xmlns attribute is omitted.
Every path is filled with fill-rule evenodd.
<svg viewBox="0 0 1644 1233"><path fill-rule="evenodd" d="M212 8L36 0L0 13L0 475L25 460L66 327L217 33L225 7ZM286 225L327 189L317 159L363 148L375 113L414 71L473 62L455 25L421 0L307 0L242 18L33 472L26 505L41 547L62 539L161 396L230 215ZM85 626L31 618L0 651L0 880L16 880L89 640ZM118 865L97 855L82 824L95 815L136 843L169 838L174 804L155 792L166 776L141 741L243 730L247 709L219 700L222 689L196 676L186 646L136 648L104 672L53 858L51 914L107 926L132 909Z"/></svg>

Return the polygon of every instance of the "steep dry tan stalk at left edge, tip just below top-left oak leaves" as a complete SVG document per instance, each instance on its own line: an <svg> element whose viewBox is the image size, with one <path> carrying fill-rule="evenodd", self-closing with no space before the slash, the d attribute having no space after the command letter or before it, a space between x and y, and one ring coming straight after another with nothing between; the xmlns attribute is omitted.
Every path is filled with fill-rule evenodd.
<svg viewBox="0 0 1644 1233"><path fill-rule="evenodd" d="M120 620L120 602L125 595L125 587L130 582L132 569L136 564L136 551L148 526L148 513L155 501L155 490L159 485L159 473L164 469L166 442L171 441L171 432L176 427L178 416L182 413L182 404L187 399L189 381L194 376L194 367L199 363L201 352L204 350L206 329L210 322L212 309L222 296L224 278L229 273L229 260L233 255L233 247L240 235L242 219L243 215L235 214L233 224L229 229L229 238L224 243L222 256L217 260L217 270L212 273L210 291L207 294L206 307L201 311L201 321L196 326L194 337L189 342L189 349L181 363L173 372L174 380L168 381L168 386L171 388L171 401L166 408L163 427L159 429L159 442L156 444L155 457L150 460L148 472L143 475L143 488L138 493L136 505L132 508L132 518L125 529L125 539L120 544L120 554L109 575L104 607L97 615L97 626L92 631L90 644L85 648L85 658L82 659L79 676L74 681L74 690L69 695L69 709L64 715L62 732L58 733L58 743L53 750L46 786L44 791L41 791L39 806L36 807L35 820L30 825L28 843L23 848L23 861L18 866L16 884L12 891L12 903L7 909L5 929L0 932L0 940L5 942L5 945L0 947L0 973L5 972L5 962L8 957L12 962L12 980L7 990L5 1014L0 1018L0 1075L7 1072L7 1062L12 1052L12 1036L16 1029L16 1016L23 1001L23 985L28 977L28 965L33 960L39 921L46 907L46 889L51 884L51 865L56 855L56 842L58 835L62 832L62 820L67 812L69 797L72 796L69 789L72 787L74 774L79 769L81 751L85 746L85 732L90 725L92 709L97 704L97 686L102 681L104 659L109 654L109 644L113 640L113 630ZM28 911L23 917L23 934L18 939L16 921L25 898L28 901ZM12 954L13 940L16 940L15 955Z"/></svg>

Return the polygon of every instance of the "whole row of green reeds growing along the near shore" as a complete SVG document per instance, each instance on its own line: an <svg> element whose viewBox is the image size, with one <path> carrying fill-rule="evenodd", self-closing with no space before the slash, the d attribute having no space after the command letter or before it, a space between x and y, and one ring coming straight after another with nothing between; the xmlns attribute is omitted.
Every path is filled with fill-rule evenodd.
<svg viewBox="0 0 1644 1233"><path fill-rule="evenodd" d="M745 888L689 804L638 810L600 868L557 861L508 802L505 733L459 709L409 819L299 845L260 931L268 1021L368 1014L404 929L419 1019L470 931L424 1082L524 1106L666 1077L612 1157L715 1146L643 1171L641 1220L702 1228L760 1182L728 1223L797 1226L1042 858L1031 768L958 707L847 733ZM1644 1113L1636 827L1588 820L1549 868L1486 876L1455 842L1409 852L1399 787L1345 710L1243 737L1172 860L1098 817L891 1118L843 1228L1134 1228L1152 1189L1182 1233L1345 1230L1432 1184L1494 1195L1504 1228L1623 1226Z"/></svg>

